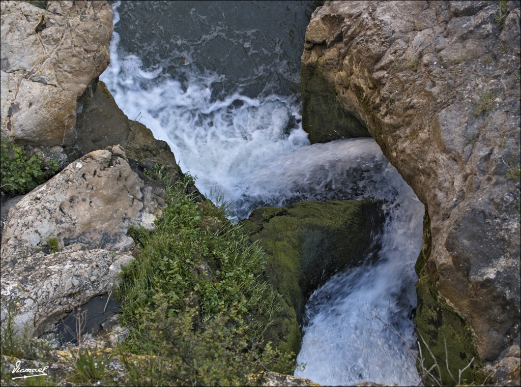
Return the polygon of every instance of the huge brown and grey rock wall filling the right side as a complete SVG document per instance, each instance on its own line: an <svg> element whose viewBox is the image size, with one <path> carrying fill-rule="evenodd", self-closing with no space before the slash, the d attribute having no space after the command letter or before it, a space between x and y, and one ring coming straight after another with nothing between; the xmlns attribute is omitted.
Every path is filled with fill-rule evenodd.
<svg viewBox="0 0 521 387"><path fill-rule="evenodd" d="M310 138L370 134L426 205L418 271L443 307L419 286L419 318L454 313L499 379L519 348L519 16L518 1L326 2L302 56Z"/></svg>

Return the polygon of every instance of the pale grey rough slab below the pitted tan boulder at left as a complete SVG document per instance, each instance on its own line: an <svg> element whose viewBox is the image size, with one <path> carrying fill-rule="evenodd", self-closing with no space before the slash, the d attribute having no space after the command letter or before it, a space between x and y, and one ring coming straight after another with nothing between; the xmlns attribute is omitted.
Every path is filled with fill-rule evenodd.
<svg viewBox="0 0 521 387"><path fill-rule="evenodd" d="M66 312L119 283L121 266L133 256L107 249L35 253L23 259L2 256L2 303L15 307L19 333L39 335L51 330ZM2 308L2 322L6 319Z"/></svg>

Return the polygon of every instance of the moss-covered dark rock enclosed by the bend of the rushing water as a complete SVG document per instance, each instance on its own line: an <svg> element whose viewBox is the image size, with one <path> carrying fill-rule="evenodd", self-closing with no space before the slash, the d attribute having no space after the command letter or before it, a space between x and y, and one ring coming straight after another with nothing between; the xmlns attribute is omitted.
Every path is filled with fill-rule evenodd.
<svg viewBox="0 0 521 387"><path fill-rule="evenodd" d="M371 235L382 226L383 213L373 201L301 202L257 209L243 223L266 250L266 280L283 299L266 339L298 352L306 299L334 273L357 266L378 248Z"/></svg>

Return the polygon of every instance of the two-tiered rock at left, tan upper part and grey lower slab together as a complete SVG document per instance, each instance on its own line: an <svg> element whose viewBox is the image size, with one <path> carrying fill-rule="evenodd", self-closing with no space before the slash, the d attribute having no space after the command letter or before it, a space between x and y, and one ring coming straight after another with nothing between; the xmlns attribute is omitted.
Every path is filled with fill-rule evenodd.
<svg viewBox="0 0 521 387"><path fill-rule="evenodd" d="M2 233L2 322L12 302L19 332L43 333L113 289L133 259L129 227L152 229L164 205L163 190L146 185L119 146L83 156L24 196Z"/></svg>

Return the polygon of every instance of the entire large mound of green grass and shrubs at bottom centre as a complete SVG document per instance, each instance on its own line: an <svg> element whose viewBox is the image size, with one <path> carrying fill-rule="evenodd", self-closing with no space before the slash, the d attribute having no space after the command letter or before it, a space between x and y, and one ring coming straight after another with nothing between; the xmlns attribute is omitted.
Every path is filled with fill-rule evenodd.
<svg viewBox="0 0 521 387"><path fill-rule="evenodd" d="M226 206L185 193L191 177L172 185L163 168L155 172L167 207L153 232L131 231L141 248L120 289L121 320L132 327L126 352L161 356L170 365L165 380L176 385L241 385L265 369L292 372L294 355L262 341L277 306L259 280L261 248L226 218ZM208 217L221 228L202 227ZM162 384L158 377L154 384Z"/></svg>

